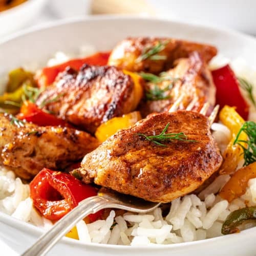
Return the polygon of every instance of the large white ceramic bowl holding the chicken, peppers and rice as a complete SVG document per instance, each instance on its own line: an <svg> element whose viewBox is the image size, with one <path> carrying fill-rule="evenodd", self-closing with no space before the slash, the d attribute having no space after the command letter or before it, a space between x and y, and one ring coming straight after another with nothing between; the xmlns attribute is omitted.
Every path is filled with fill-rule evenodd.
<svg viewBox="0 0 256 256"><path fill-rule="evenodd" d="M126 36L170 36L208 42L229 57L243 57L256 66L256 39L230 30L128 17L96 17L55 24L0 42L0 74L35 61L46 61L57 50L74 51L82 45L112 49ZM16 252L23 252L42 231L0 214L0 239ZM256 228L238 234L197 242L144 247L82 244L62 239L49 255L255 255Z"/></svg>

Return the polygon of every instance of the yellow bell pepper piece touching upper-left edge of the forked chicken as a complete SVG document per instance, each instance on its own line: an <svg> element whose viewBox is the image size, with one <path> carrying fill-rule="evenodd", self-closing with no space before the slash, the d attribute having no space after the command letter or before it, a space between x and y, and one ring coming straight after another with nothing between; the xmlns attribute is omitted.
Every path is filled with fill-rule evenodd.
<svg viewBox="0 0 256 256"><path fill-rule="evenodd" d="M139 111L134 111L121 117L114 117L102 123L96 130L95 136L103 142L120 129L126 129L141 119Z"/></svg>

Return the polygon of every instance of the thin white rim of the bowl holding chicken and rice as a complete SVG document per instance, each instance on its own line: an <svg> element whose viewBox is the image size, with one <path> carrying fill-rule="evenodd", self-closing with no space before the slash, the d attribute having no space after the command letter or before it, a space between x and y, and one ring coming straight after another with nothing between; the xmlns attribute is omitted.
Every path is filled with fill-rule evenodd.
<svg viewBox="0 0 256 256"><path fill-rule="evenodd" d="M30 0L32 1L32 0ZM36 1L36 0L33 0ZM25 4L25 3L24 3ZM104 21L104 20L123 20L126 22L129 22L129 20L146 20L147 22L162 22L162 23L172 23L174 25L184 25L194 28L202 28L202 29L210 29L215 32L226 32L228 34L231 34L233 36L241 37L247 40L251 40L256 45L256 38L247 35L243 32L239 32L233 29L229 28L219 28L218 26L209 26L209 25L202 25L198 23L186 23L186 22L179 22L177 20L171 20L171 19L164 19L164 18L155 18L155 17L145 17L145 16L133 16L133 15L95 15L95 16L86 16L86 17L75 17L75 18L67 18L67 19L61 19L49 23L45 23L42 25L38 25L29 29L24 29L21 31L18 31L16 33L13 33L9 36L4 37L3 39L0 39L0 50L3 44L10 40L14 40L15 38L26 36L27 34L32 34L34 32L39 32L41 30L47 30L50 28L56 28L59 26L65 26L68 24L75 24L80 22L88 22L88 21ZM20 221L18 219L15 219L14 217L11 217L3 212L0 212L0 222L4 222L5 224L12 226L13 228L22 230L24 232L27 231L27 233L31 234L32 236L35 236L35 234L43 234L45 233L44 229L41 229L37 226L34 226L33 224ZM14 223L13 223L14 222ZM14 225L13 225L14 224ZM256 227L252 227L246 230L243 230L240 233L234 233L234 234L228 234L225 237L225 241L232 240L233 237L243 236L243 237L251 237L252 234L255 234ZM192 241L192 242L183 242L183 243L176 243L176 244L150 244L150 245L138 245L138 246L130 246L130 245L111 245L111 244L97 244L97 243L84 243L80 242L79 240L63 237L60 241L65 242L66 244L70 244L72 246L79 245L84 247L91 247L91 248L104 248L106 250L111 249L125 249L129 251L134 251L137 249L143 249L143 250L152 250L153 248L156 248L157 250L163 250L163 249L172 249L172 248L187 248L191 246L198 246L205 243L212 243L219 240L224 239L223 236L215 237L215 238L209 238L204 240L198 240L198 241Z"/></svg>

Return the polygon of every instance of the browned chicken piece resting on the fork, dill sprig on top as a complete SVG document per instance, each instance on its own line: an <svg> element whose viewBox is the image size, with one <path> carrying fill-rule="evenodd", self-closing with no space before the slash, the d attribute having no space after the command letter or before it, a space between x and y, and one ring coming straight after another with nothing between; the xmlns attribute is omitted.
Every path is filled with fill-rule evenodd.
<svg viewBox="0 0 256 256"><path fill-rule="evenodd" d="M143 136L184 132L188 140L161 141ZM94 182L123 194L153 202L170 202L199 187L222 162L208 120L192 111L148 116L120 130L87 154L76 171L85 183Z"/></svg>

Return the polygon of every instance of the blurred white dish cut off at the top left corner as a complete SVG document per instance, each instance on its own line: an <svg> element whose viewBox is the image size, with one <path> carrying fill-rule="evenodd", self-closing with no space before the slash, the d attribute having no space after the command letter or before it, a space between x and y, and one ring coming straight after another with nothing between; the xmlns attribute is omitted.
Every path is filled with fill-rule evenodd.
<svg viewBox="0 0 256 256"><path fill-rule="evenodd" d="M0 12L0 36L2 37L28 24L46 3L47 0L29 0Z"/></svg>

